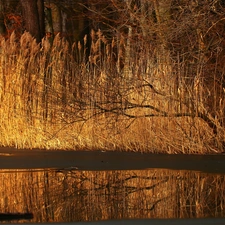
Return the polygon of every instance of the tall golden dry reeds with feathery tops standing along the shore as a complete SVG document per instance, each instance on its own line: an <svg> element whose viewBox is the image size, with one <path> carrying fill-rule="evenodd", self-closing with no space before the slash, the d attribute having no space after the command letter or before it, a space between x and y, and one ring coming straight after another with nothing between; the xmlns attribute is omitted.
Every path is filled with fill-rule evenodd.
<svg viewBox="0 0 225 225"><path fill-rule="evenodd" d="M107 43L101 33L92 40L88 60L85 46L71 50L58 36L52 46L37 45L27 33L0 40L2 146L223 151L223 93L210 103L213 110L207 105L218 93L216 78L213 92L199 67L153 63L147 48L126 58L123 41L115 57L114 40Z"/></svg>

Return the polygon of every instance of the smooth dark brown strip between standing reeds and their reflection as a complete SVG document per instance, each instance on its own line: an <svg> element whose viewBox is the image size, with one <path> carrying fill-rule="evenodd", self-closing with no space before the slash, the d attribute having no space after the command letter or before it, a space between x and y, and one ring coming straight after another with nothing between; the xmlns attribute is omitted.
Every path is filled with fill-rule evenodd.
<svg viewBox="0 0 225 225"><path fill-rule="evenodd" d="M167 155L134 152L46 151L0 148L0 169L141 170L165 168L225 173L225 155Z"/></svg>

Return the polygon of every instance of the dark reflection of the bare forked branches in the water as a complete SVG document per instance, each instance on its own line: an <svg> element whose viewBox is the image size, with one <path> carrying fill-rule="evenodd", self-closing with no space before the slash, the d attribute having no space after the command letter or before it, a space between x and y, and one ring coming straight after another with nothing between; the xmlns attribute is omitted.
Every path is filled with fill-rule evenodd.
<svg viewBox="0 0 225 225"><path fill-rule="evenodd" d="M83 196L92 196L93 199L96 199L101 204L106 205L110 213L115 215L123 214L124 209L128 209L129 213L131 211L140 212L140 210L151 211L155 206L161 201L165 200L169 196L149 199L148 204L145 207L138 207L138 203L142 202L144 199L138 198L135 202L130 200L134 196L140 196L144 193L154 192L154 190L163 183L168 181L168 176L166 177L152 177L152 176L143 176L137 175L133 172L133 175L128 173L125 177L121 176L121 172L108 172L106 176L99 179L99 177L89 177L85 173L81 176L78 175L76 171L70 171L67 173L67 181L70 182L70 178L80 179L82 185L82 191L79 186L73 186L72 196L74 195L83 195ZM141 185L139 182L142 182ZM145 185L148 183L147 185ZM102 199L101 196L104 196ZM132 196L132 197L130 197ZM70 196L71 197L71 196ZM95 202L95 201L94 201ZM103 207L104 208L104 207ZM137 213L136 212L136 213ZM122 216L122 215L121 215Z"/></svg>

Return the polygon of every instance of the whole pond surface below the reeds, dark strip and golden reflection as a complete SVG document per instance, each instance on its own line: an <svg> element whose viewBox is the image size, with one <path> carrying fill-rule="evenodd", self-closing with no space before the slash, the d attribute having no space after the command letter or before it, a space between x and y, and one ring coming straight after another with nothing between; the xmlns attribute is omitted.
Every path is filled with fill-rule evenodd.
<svg viewBox="0 0 225 225"><path fill-rule="evenodd" d="M33 215L2 222L148 224L147 219L154 219L151 224L225 224L224 156L187 157L197 165L185 169L179 156L170 156L176 164L172 167L167 156L160 162L159 155L87 154L0 149L1 213ZM157 160L165 168L152 168ZM196 218L201 220L195 223Z"/></svg>

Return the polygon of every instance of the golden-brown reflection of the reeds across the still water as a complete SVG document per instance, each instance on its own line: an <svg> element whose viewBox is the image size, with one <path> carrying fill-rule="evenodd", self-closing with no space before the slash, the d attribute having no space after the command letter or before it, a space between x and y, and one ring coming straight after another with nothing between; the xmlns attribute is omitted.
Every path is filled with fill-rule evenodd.
<svg viewBox="0 0 225 225"><path fill-rule="evenodd" d="M224 175L185 171L48 171L0 174L0 207L32 222L223 217Z"/></svg>

